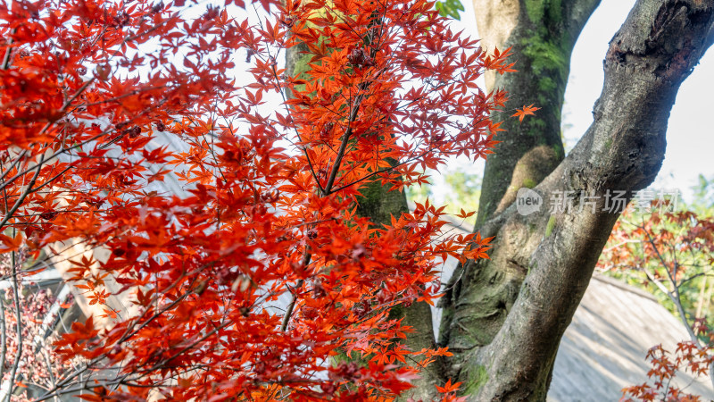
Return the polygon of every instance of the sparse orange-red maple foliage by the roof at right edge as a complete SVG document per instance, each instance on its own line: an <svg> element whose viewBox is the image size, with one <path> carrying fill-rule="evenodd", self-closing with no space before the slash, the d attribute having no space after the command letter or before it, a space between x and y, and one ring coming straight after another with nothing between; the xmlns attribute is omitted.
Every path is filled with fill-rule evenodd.
<svg viewBox="0 0 714 402"><path fill-rule="evenodd" d="M687 287L702 278L705 286L714 264L714 218L687 210L658 212L669 201L661 203L652 203L652 214L624 214L610 234L612 246L605 248L598 264L601 270L626 273L653 285L665 304L673 306L691 339L679 342L673 353L662 345L651 348L646 356L652 366L649 381L622 389L623 401L702 400L677 387L673 379L681 372L706 378L714 364L714 331L707 325L712 317L694 316L699 313L687 308L693 305L692 293L703 297L703 291Z"/></svg>

